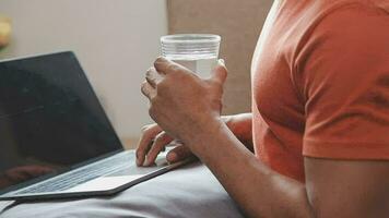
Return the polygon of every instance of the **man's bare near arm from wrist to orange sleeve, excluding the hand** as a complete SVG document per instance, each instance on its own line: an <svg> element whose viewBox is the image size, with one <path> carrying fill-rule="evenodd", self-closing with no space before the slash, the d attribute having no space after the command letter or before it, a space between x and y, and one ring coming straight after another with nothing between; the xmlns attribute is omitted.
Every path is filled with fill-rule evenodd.
<svg viewBox="0 0 389 218"><path fill-rule="evenodd" d="M389 214L388 161L305 158L305 185L258 161L224 124L212 134L202 132L198 141L192 141L192 152L249 217L358 218ZM207 145L194 146L202 142Z"/></svg>

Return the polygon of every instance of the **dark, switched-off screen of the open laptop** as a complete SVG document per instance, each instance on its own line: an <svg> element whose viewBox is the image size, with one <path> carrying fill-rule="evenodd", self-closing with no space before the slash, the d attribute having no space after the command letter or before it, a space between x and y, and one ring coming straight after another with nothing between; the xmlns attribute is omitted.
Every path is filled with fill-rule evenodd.
<svg viewBox="0 0 389 218"><path fill-rule="evenodd" d="M0 62L0 190L120 149L72 52Z"/></svg>

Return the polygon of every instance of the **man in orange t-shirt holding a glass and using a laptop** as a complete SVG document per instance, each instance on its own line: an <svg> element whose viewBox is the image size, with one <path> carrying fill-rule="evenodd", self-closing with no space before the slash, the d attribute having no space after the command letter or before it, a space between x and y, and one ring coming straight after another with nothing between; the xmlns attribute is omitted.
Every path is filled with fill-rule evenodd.
<svg viewBox="0 0 389 218"><path fill-rule="evenodd" d="M155 61L142 93L157 124L143 131L139 165L176 138L168 160L199 157L249 217L389 215L387 1L274 1L250 114L220 117L226 73L223 61L209 80Z"/></svg>

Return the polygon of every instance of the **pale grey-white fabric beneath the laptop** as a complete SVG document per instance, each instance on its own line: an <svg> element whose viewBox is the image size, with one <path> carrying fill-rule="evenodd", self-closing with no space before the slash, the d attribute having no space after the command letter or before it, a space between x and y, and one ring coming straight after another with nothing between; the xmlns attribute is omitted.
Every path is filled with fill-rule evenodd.
<svg viewBox="0 0 389 218"><path fill-rule="evenodd" d="M24 203L5 209L0 204L0 217L244 216L210 170L201 164L191 164L109 197Z"/></svg>

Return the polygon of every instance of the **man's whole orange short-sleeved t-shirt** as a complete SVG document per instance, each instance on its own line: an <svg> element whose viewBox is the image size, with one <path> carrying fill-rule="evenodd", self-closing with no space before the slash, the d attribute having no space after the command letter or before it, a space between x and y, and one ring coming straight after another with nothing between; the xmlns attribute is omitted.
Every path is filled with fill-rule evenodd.
<svg viewBox="0 0 389 218"><path fill-rule="evenodd" d="M389 2L275 1L252 59L256 155L304 182L304 156L389 160Z"/></svg>

